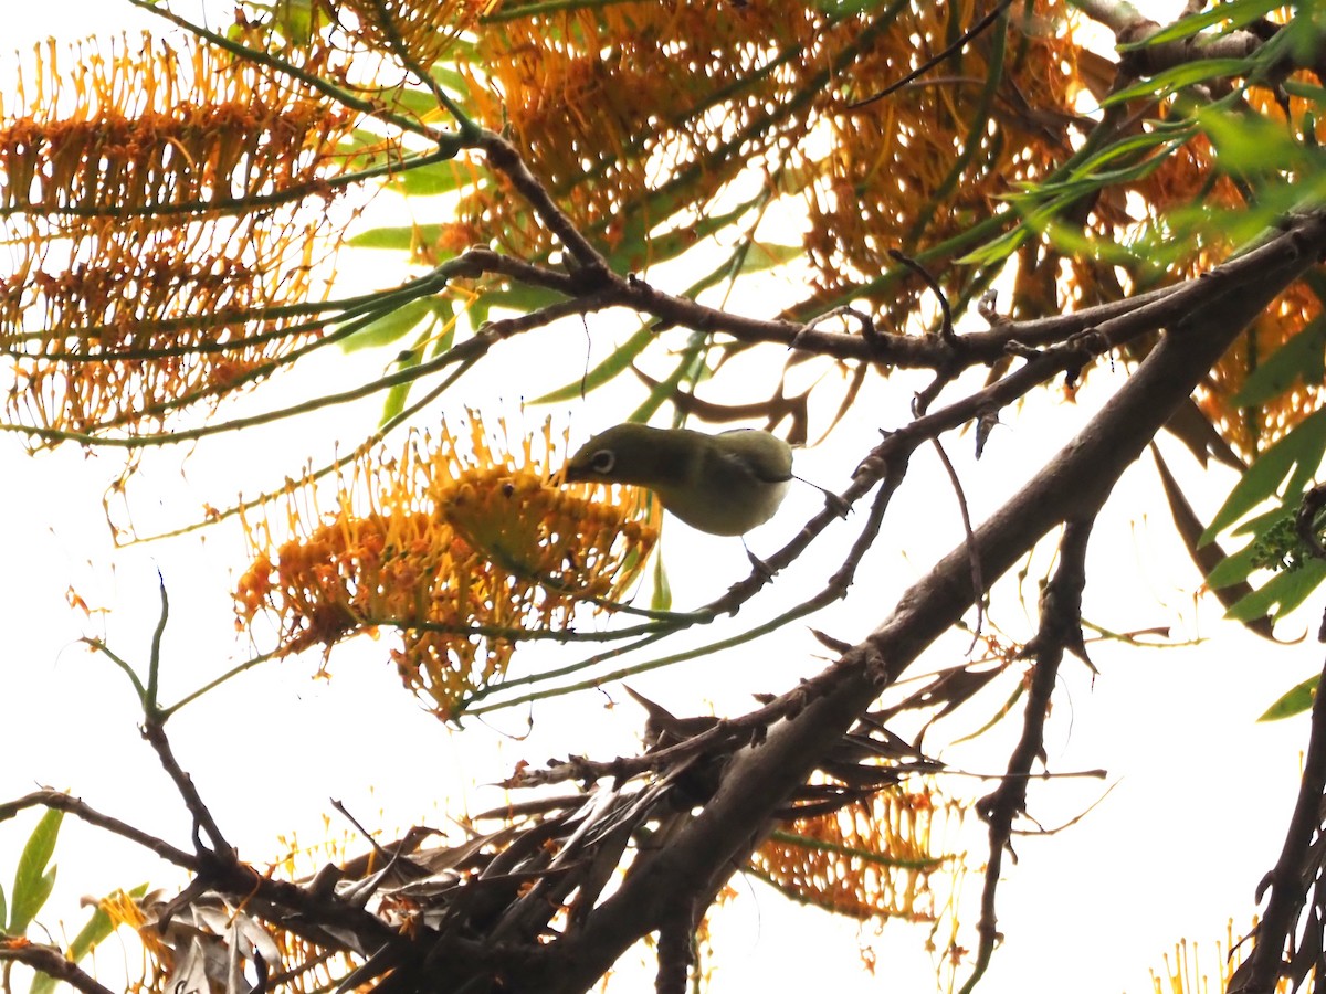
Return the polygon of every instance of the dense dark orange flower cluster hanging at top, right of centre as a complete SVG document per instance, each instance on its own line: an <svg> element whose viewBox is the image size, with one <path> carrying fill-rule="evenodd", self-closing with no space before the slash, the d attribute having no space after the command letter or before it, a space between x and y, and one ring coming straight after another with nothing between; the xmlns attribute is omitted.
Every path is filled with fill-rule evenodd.
<svg viewBox="0 0 1326 994"><path fill-rule="evenodd" d="M967 235L1001 197L1070 155L1069 123L1082 85L1061 0L1014 4L997 49L994 27L888 97L846 106L900 81L952 44L955 25L973 25L987 11L976 0L902 5L845 72L842 94L825 94L830 151L813 164L817 182L806 187L805 243L825 296L892 268L891 248L911 254ZM823 45L845 50L854 40L839 29ZM992 77L998 82L989 91ZM931 269L953 297L975 274L945 272L941 261ZM912 286L882 301L894 325L916 307L922 288Z"/></svg>

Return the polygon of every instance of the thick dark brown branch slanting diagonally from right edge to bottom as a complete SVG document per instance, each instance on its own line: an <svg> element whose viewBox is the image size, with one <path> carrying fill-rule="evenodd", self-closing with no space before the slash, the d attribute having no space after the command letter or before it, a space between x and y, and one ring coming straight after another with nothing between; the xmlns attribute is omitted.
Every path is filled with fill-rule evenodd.
<svg viewBox="0 0 1326 994"><path fill-rule="evenodd" d="M976 531L987 580L1002 575L1055 525L1103 502L1211 364L1266 304L1326 247L1326 223L1306 219L1258 250L1254 277L1208 278L1204 293L1131 379L1022 490ZM1253 253L1249 253L1253 254ZM1246 257L1245 257L1246 258ZM955 549L908 590L892 615L825 675L831 685L768 740L733 758L713 799L672 843L631 867L556 957L561 969L517 986L583 991L687 897L713 893L745 863L772 816L879 692L972 603L968 549ZM550 964L549 964L550 965Z"/></svg>

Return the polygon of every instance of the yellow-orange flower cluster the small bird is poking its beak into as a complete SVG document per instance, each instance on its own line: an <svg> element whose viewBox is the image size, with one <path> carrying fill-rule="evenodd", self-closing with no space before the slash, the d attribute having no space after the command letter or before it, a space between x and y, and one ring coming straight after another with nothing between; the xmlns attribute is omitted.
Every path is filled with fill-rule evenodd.
<svg viewBox="0 0 1326 994"><path fill-rule="evenodd" d="M513 455L472 414L468 445L443 428L436 447L411 436L398 459L357 460L337 477L334 510L318 509L314 481L292 485L289 539L245 525L255 558L240 620L274 616L285 653L396 628L406 687L457 716L517 641L564 630L585 598L621 598L658 538L656 502L556 486L550 427L536 437L538 451L526 437Z"/></svg>

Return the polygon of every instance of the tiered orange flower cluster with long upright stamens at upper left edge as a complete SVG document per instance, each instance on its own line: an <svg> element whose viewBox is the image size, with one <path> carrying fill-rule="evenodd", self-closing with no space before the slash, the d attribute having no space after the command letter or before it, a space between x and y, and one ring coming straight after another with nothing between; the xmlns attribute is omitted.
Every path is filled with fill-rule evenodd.
<svg viewBox="0 0 1326 994"><path fill-rule="evenodd" d="M54 42L0 127L0 350L15 421L134 431L269 374L318 334L282 306L339 233L326 207L350 117L210 46Z"/></svg>

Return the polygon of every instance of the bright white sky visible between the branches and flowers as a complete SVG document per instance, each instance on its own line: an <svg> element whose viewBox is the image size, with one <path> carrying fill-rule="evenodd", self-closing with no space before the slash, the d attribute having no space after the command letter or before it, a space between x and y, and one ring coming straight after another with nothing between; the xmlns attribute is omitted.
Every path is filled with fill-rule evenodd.
<svg viewBox="0 0 1326 994"><path fill-rule="evenodd" d="M20 46L49 32L90 32L147 24L127 4L94 0L45 0L7 12L8 41ZM365 286L391 280L375 266L382 260L361 257L342 272ZM676 289L676 288L674 288ZM741 307L743 302L735 306ZM760 298L745 302L762 313ZM614 323L615 321L615 323ZM627 329L630 330L630 329ZM625 334L621 318L590 322L594 342ZM499 379L471 386L460 402L485 410L511 408L541 386L548 368L565 382L583 364L583 334L572 345L549 350L546 363L530 363L526 345L492 358ZM607 346L594 346L606 354ZM542 355L542 354L538 354ZM280 402L334 383L357 382L365 364L328 357L298 379L282 379ZM533 372L528 372L533 370ZM565 375L564 375L565 374ZM996 432L985 460L969 459L969 440L951 439L972 513L980 520L998 505L1036 465L1033 457L1050 440L1067 439L1095 410L1110 387L1109 371L1093 374L1077 407L1055 407L1045 398L1029 402L1028 416L1008 415L1009 427ZM851 417L837 432L833 447L798 456L800 472L827 486L847 478L857 453L879 427L907 417L910 386L903 380L875 383ZM255 407L267 407L260 394ZM150 456L134 481L134 506L141 527L192 520L206 502L224 505L236 490L269 486L306 457L321 461L333 440L353 445L371 429L377 400L338 408L278 432L225 437L200 448L180 472L178 453ZM629 410L613 398L591 399L570 412L582 439ZM564 411L554 412L566 416ZM542 412L529 415L530 423ZM812 435L823 423L812 427ZM1026 455L1022 455L1022 453ZM1171 465L1184 478L1199 481L1191 460L1167 445ZM1021 463L1020 463L1021 460ZM8 569L0 578L11 637L0 664L0 799L27 793L34 785L65 787L89 803L187 846L184 812L154 757L137 734L135 701L127 683L105 660L89 656L76 640L105 634L122 656L141 663L156 616L156 571L172 598L172 622L164 657L166 698L171 698L243 659L247 641L237 639L229 614L233 575L243 569L241 545L232 529L219 529L206 541L188 539L115 550L109 542L101 506L115 477L111 453L86 456L72 449L29 459L16 439L0 440L0 520L9 522ZM918 476L932 465L918 464ZM1208 514L1229 480L1205 486ZM752 547L778 547L813 513L813 492L793 493L788 509L751 538ZM1282 827L1293 801L1298 750L1306 741L1306 718L1258 725L1256 717L1288 687L1317 671L1319 647L1309 640L1272 647L1219 622L1209 599L1195 607L1195 570L1171 535L1155 472L1147 460L1134 467L1097 526L1093 538L1087 614L1114 630L1174 626L1176 635L1216 637L1192 649L1110 651L1094 660L1101 676L1093 683L1081 665L1066 663L1063 696L1050 724L1052 767L1061 771L1106 767L1113 793L1077 826L1049 838L1018 839L1020 861L1008 868L1000 891L1000 928L1005 944L997 952L981 990L1000 991L1148 991L1148 967L1180 938L1196 940L1215 964L1213 941L1225 921L1236 932L1249 922L1253 891L1274 861ZM1131 514L1131 517L1130 517ZM837 526L837 545L810 555L780 578L774 602L818 586L841 557L853 522ZM679 607L703 603L745 570L740 543L695 537L670 525L668 569ZM884 545L867 559L854 596L813 623L843 639L857 639L878 623L906 586L947 551L960 535L952 496L944 485L922 492L910 481L890 512ZM1033 578L1038 574L1033 571ZM73 584L109 615L84 619L70 611L65 590ZM997 616L1016 637L1032 632L1030 619L1008 607ZM1313 610L1319 610L1319 603ZM717 637L773 614L749 606L735 628L703 632ZM1286 634L1315 630L1305 616ZM756 690L781 690L818 664L819 647L805 627L793 627L744 652L683 664L633 681L642 693L679 713L705 709L723 713L749 705ZM956 661L961 648L930 660ZM560 657L560 661L566 657ZM310 843L324 835L329 798L343 801L362 820L404 827L418 819L443 822L443 812L471 811L500 803L501 795L472 782L492 782L509 773L516 759L541 762L568 751L610 755L634 747L640 717L626 702L606 709L607 696L587 694L536 712L528 740L500 732L524 732L524 713L504 713L493 729L472 724L461 737L448 734L400 689L386 660L385 643L361 641L338 651L333 679L310 676L316 660L289 660L240 679L182 712L170 726L180 761L191 770L220 824L257 863L278 859L278 838L292 830ZM1006 685L1004 692L1006 692ZM623 694L609 689L619 704ZM997 702L989 702L994 706ZM985 713L972 714L979 724ZM975 746L955 749L945 758L968 769L998 769L1018 722ZM964 726L965 728L965 726ZM968 729L969 730L969 729ZM943 732L943 730L941 730ZM939 742L940 738L935 738ZM951 791L984 793L969 781L947 779ZM1095 781L1033 785L1032 811L1046 827L1081 814L1103 787ZM379 810L383 812L378 815ZM8 891L19 846L30 819L0 824L0 884ZM341 824L333 822L334 832ZM983 832L965 844L980 864ZM50 905L70 922L82 921L78 895L99 895L142 880L170 885L154 859L118 842L66 822L57 857L60 887ZM926 991L934 970L920 952L922 932L890 925L875 978L859 969L855 929L813 911L797 911L757 883L736 880L740 913L716 926L719 949L716 990L785 989L814 983L841 991ZM971 881L975 900L979 880ZM48 909L49 911L49 909ZM56 925L52 914L42 921ZM975 908L964 914L971 929ZM967 938L975 945L975 936ZM98 960L115 969L118 949L110 944ZM625 986L622 989L626 989Z"/></svg>

